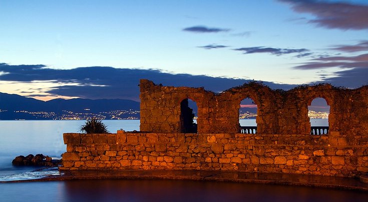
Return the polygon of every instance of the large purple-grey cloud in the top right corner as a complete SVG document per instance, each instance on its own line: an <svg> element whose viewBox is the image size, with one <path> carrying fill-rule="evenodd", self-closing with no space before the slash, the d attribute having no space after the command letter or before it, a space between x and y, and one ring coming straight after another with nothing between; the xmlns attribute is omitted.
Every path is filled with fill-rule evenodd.
<svg viewBox="0 0 368 202"><path fill-rule="evenodd" d="M368 29L368 5L326 0L279 0L289 3L296 12L315 16L308 22L338 29Z"/></svg>

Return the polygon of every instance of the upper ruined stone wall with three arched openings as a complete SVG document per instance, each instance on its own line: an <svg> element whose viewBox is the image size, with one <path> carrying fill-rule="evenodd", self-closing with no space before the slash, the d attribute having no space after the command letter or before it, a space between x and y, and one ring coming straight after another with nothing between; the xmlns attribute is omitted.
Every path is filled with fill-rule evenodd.
<svg viewBox="0 0 368 202"><path fill-rule="evenodd" d="M330 105L329 131L344 136L368 134L368 86L336 88L329 84L272 90L250 82L222 93L203 88L155 85L142 79L140 130L180 133L180 103L190 98L198 107L198 133L238 133L240 101L251 98L258 106L257 133L310 134L308 105L324 98Z"/></svg>

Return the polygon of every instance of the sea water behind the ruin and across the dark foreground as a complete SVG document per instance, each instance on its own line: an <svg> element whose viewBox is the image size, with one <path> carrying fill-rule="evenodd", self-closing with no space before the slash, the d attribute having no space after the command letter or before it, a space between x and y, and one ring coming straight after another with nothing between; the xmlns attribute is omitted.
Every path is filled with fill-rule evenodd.
<svg viewBox="0 0 368 202"><path fill-rule="evenodd" d="M66 152L63 133L76 133L85 121L0 121L0 181L21 180L37 167L15 167L16 156L44 154L61 158ZM139 120L104 120L108 130L139 131ZM328 120L311 120L326 126ZM256 126L255 119L240 120ZM17 177L18 176L18 177ZM17 179L19 178L19 179ZM0 182L0 202L221 202L368 201L368 194L321 188L228 182L175 180L71 180L53 182Z"/></svg>

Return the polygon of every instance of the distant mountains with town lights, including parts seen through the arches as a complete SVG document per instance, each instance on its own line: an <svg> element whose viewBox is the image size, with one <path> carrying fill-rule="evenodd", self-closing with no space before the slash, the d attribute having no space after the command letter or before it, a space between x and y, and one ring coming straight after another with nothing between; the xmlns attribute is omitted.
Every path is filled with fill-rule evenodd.
<svg viewBox="0 0 368 202"><path fill-rule="evenodd" d="M314 101L313 101L314 102ZM316 99L309 110L328 112L323 99ZM242 104L252 104L243 100ZM197 116L197 106L189 100L189 107ZM240 114L256 114L257 108L240 108ZM98 117L101 119L139 119L140 103L126 99L53 99L37 100L16 94L0 93L0 120L71 120Z"/></svg>

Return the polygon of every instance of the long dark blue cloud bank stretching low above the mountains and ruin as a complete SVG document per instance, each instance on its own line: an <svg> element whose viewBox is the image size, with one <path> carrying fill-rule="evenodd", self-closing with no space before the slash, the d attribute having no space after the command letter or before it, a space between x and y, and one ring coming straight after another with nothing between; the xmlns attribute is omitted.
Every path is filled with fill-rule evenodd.
<svg viewBox="0 0 368 202"><path fill-rule="evenodd" d="M61 83L59 87L48 90L51 96L70 96L90 99L133 99L139 100L139 80L149 79L168 86L205 87L221 92L250 80L219 78L205 75L170 74L153 69L120 69L113 67L79 67L74 69L51 69L45 65L0 64L2 81L32 82L52 81ZM66 85L68 84L68 85ZM264 82L271 88L290 89L296 85ZM35 89L33 89L35 90ZM45 91L45 89L39 89ZM26 91L26 89L25 89ZM35 95L38 92L35 91ZM29 96L33 96L32 94Z"/></svg>

